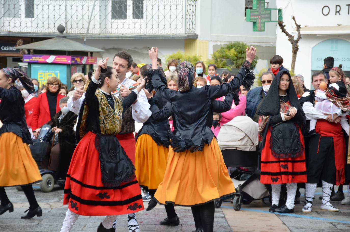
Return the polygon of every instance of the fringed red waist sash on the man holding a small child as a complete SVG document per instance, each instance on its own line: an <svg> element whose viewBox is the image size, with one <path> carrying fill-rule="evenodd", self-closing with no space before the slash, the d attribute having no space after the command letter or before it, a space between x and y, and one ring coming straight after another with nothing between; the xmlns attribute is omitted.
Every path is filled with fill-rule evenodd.
<svg viewBox="0 0 350 232"><path fill-rule="evenodd" d="M326 120L317 120L316 132L321 136L333 137L335 168L337 170L335 184L345 182L345 139L340 123L330 123ZM320 137L321 139L321 137ZM318 144L319 145L319 144ZM337 149L335 149L335 146ZM318 149L317 149L318 153Z"/></svg>

